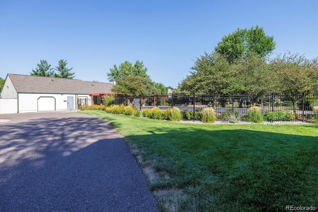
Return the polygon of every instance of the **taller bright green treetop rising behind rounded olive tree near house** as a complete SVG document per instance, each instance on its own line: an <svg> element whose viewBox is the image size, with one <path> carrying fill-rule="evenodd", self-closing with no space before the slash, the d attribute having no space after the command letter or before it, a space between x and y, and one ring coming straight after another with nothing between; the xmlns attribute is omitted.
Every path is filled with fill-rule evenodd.
<svg viewBox="0 0 318 212"><path fill-rule="evenodd" d="M137 60L134 65L129 61L121 63L118 67L115 64L114 67L110 68L109 70L110 73L107 73L108 80L113 79L116 82L127 76L140 76L150 79L150 77L147 74L148 68L145 67L143 62L140 62L139 60Z"/></svg>

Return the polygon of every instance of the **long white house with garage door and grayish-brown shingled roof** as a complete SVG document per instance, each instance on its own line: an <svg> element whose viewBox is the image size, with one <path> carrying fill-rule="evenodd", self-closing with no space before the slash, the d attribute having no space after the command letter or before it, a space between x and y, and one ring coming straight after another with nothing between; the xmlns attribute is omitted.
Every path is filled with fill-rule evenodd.
<svg viewBox="0 0 318 212"><path fill-rule="evenodd" d="M92 105L89 94L111 94L114 84L8 74L0 93L0 113L78 109ZM96 103L95 103L96 104Z"/></svg>

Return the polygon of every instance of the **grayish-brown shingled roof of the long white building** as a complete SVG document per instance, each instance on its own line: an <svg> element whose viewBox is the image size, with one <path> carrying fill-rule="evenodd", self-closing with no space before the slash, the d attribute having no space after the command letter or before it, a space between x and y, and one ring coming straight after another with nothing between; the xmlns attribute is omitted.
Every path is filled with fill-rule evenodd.
<svg viewBox="0 0 318 212"><path fill-rule="evenodd" d="M56 77L8 74L18 93L96 94L112 93L111 83L95 83Z"/></svg>

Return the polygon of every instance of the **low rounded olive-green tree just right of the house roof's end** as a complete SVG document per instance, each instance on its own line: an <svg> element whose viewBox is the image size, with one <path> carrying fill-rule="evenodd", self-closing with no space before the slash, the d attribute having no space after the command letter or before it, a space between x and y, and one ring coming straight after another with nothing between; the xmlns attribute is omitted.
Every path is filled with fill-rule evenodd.
<svg viewBox="0 0 318 212"><path fill-rule="evenodd" d="M143 78L140 76L126 76L125 78L119 79L111 91L127 97L149 95L147 86L144 84Z"/></svg>

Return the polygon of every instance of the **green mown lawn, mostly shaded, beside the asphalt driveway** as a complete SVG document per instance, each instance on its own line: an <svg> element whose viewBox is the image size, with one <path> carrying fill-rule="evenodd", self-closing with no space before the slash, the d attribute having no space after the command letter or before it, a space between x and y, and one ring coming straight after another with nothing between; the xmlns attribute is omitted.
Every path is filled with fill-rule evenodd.
<svg viewBox="0 0 318 212"><path fill-rule="evenodd" d="M131 147L162 211L318 208L318 125L182 124L85 111L108 120ZM146 165L145 165L146 164Z"/></svg>

